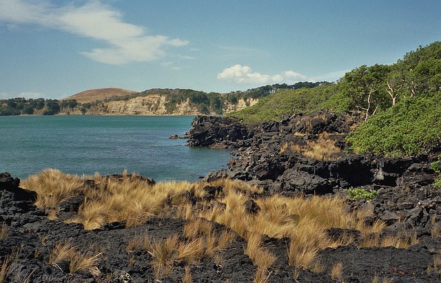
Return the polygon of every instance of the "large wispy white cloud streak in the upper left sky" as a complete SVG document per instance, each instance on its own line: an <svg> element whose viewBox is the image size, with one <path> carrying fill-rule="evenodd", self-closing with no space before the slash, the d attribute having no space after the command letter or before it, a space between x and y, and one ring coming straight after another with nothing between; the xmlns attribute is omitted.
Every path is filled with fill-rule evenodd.
<svg viewBox="0 0 441 283"><path fill-rule="evenodd" d="M100 1L57 7L49 1L0 0L0 21L8 25L36 24L103 41L108 48L95 48L81 54L114 65L153 61L165 56L167 47L188 44L181 39L148 35L145 28L125 23L121 12Z"/></svg>

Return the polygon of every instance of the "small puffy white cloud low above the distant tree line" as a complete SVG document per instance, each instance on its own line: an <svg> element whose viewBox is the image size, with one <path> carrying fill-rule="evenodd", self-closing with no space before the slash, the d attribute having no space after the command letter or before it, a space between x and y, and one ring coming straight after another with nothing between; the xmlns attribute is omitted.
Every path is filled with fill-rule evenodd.
<svg viewBox="0 0 441 283"><path fill-rule="evenodd" d="M281 74L260 74L252 72L251 67L243 65L234 65L227 67L218 73L217 78L222 81L230 81L233 83L296 83L307 79L306 76L293 71L285 71Z"/></svg>

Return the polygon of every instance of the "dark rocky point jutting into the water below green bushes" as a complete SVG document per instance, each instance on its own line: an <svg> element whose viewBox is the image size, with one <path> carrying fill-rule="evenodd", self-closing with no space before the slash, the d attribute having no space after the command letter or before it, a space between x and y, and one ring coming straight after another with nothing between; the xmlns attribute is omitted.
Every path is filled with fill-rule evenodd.
<svg viewBox="0 0 441 283"><path fill-rule="evenodd" d="M440 149L404 158L353 154L345 143L357 119L325 110L298 114L258 125L235 118L198 116L189 131L189 145L237 148L228 162L204 180L232 178L285 196L347 196L348 189L375 191L376 198L352 207L369 207L385 231L430 235L441 220L441 192L432 186L431 169Z"/></svg>

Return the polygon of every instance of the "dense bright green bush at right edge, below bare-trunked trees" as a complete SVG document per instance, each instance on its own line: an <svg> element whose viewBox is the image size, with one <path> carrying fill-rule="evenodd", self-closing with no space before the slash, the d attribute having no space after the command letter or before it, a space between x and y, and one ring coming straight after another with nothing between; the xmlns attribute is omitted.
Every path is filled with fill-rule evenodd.
<svg viewBox="0 0 441 283"><path fill-rule="evenodd" d="M441 143L441 92L404 99L351 132L347 142L356 152L411 156Z"/></svg>

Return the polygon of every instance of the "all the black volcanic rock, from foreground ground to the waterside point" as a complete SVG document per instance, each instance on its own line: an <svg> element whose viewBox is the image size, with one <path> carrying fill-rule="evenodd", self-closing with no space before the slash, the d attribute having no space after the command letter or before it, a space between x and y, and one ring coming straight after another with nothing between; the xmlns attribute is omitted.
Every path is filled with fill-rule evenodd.
<svg viewBox="0 0 441 283"><path fill-rule="evenodd" d="M434 150L413 158L348 154L344 137L353 123L351 117L327 112L253 126L240 125L231 118L199 117L194 121L189 133L190 145L238 147L229 161L229 169L209 174L205 180L225 177L243 180L263 187L266 196L315 194L346 198L348 189L376 191L370 202L348 198L347 207L370 209L373 214L365 222L374 224L381 220L386 227L379 236L401 242L401 246L391 243L390 247L360 247L362 235L356 229L331 228L327 231L329 236L351 235L354 241L320 251L317 255L320 266L316 268L296 269L287 260L289 239L266 237L263 247L276 255L276 261L260 282L441 281L441 192L433 187L438 176L430 169L438 153ZM324 140L332 143L327 145L325 154L320 154L322 158L305 157L311 151L317 154L319 149L314 141L325 144ZM163 213L132 227L125 222L111 222L94 230L63 222L78 213L84 198L63 202L58 217L50 220L47 210L34 205L37 193L21 189L20 180L13 176L0 174L0 263L3 263L0 282L255 280L258 266L245 254L247 242L221 224L214 224L216 233L225 229L234 233L234 240L219 251L222 260L202 258L192 264L191 280L185 277L184 264L175 264L170 275L155 279L152 253L129 248L130 242L136 235L145 233L150 238L165 239L183 231L188 220ZM244 205L252 213L259 213L253 202ZM66 242L72 243L76 258L54 260L54 251ZM84 268L74 266L74 259L79 262L79 258L88 255L96 257L93 264ZM341 264L340 273L338 264Z"/></svg>

